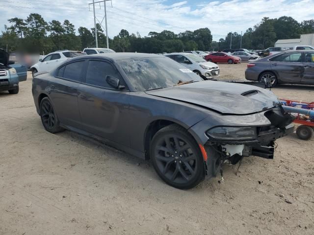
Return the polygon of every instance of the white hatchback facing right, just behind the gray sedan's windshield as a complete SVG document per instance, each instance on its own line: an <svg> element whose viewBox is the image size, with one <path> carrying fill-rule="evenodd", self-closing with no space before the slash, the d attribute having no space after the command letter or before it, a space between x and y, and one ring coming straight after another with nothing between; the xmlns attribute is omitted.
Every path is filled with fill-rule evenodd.
<svg viewBox="0 0 314 235"><path fill-rule="evenodd" d="M191 53L170 53L164 54L164 56L177 61L206 80L219 77L220 70L218 65L208 62L198 55Z"/></svg>

